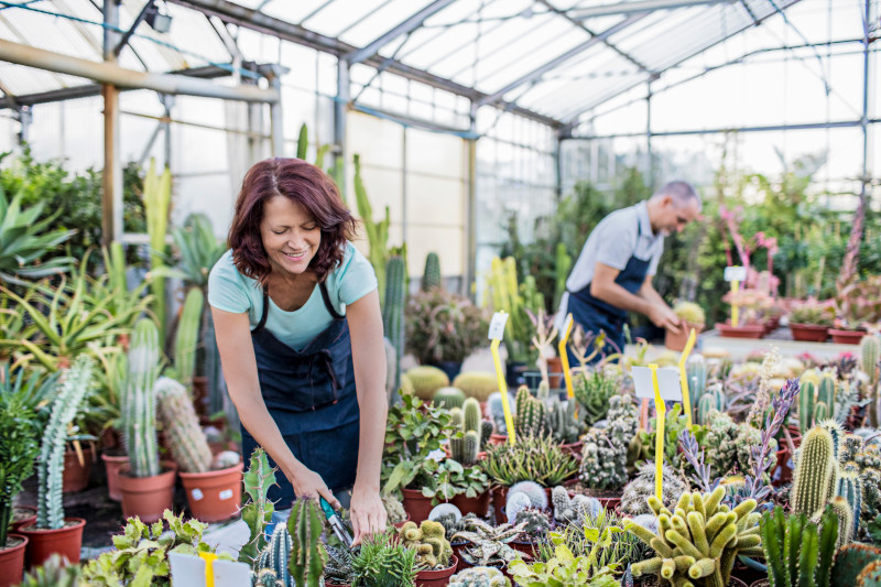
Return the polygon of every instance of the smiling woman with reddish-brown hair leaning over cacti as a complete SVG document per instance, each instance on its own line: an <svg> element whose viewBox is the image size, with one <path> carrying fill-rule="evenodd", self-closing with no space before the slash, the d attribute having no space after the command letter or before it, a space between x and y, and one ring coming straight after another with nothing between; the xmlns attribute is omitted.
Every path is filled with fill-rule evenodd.
<svg viewBox="0 0 881 587"><path fill-rule="evenodd" d="M217 347L242 423L242 454L265 448L294 496L334 508L351 489L355 544L385 528L379 496L385 354L377 278L349 242L356 221L334 182L296 159L244 176L230 250L211 269Z"/></svg>

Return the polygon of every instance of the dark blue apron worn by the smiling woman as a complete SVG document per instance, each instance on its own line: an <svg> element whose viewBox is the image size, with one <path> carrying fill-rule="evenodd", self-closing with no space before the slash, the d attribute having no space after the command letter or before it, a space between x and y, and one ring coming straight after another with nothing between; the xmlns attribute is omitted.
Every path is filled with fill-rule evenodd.
<svg viewBox="0 0 881 587"><path fill-rule="evenodd" d="M303 350L294 350L265 329L269 293L263 292L263 315L251 330L260 391L272 420L287 446L304 466L317 472L331 491L355 485L358 467L358 398L351 361L351 339L346 317L330 303L327 286L322 298L334 317ZM257 442L244 426L241 450L246 463ZM270 465L275 463L270 458ZM276 471L278 487L269 491L275 509L291 507L294 488Z"/></svg>

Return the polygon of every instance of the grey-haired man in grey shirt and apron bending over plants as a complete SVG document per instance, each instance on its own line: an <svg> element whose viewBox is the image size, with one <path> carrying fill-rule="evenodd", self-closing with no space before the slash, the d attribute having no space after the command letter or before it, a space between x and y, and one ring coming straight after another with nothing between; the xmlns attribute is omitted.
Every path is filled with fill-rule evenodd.
<svg viewBox="0 0 881 587"><path fill-rule="evenodd" d="M700 214L700 197L686 182L671 182L635 206L616 210L590 232L566 281L556 316L562 328L567 313L586 331L606 333L624 349L624 319L639 312L660 328L678 333L679 318L652 286L664 252L664 237L679 232ZM614 349L606 347L606 354Z"/></svg>

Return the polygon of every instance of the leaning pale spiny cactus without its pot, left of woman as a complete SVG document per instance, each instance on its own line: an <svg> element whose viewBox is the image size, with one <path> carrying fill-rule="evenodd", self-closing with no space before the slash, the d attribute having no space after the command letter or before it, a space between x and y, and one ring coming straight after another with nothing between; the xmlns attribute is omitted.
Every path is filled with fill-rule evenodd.
<svg viewBox="0 0 881 587"><path fill-rule="evenodd" d="M185 472L207 471L211 464L211 449L186 389L167 377L159 378L154 389L160 422L174 460Z"/></svg>

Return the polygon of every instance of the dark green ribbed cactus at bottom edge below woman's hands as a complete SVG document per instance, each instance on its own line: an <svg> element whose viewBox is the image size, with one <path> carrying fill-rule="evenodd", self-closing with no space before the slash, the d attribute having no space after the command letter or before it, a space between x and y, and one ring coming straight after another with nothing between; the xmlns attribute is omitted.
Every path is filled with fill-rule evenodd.
<svg viewBox="0 0 881 587"><path fill-rule="evenodd" d="M322 583L327 551L322 543L324 515L312 499L297 499L287 519L291 533L291 557L287 568L296 587L318 587Z"/></svg>

